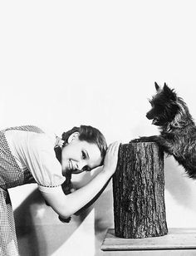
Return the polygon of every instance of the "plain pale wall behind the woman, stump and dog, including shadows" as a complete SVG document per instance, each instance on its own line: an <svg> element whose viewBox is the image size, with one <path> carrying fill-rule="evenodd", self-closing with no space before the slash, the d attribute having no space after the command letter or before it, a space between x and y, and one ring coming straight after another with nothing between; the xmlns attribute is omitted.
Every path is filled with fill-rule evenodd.
<svg viewBox="0 0 196 256"><path fill-rule="evenodd" d="M174 88L195 117L195 24L189 0L1 1L0 127L33 124L61 135L86 124L108 144L159 134L145 117L154 81ZM59 222L36 186L10 192L22 255L102 254L113 227L111 184L71 224ZM172 157L165 202L169 227L196 227L195 181Z"/></svg>

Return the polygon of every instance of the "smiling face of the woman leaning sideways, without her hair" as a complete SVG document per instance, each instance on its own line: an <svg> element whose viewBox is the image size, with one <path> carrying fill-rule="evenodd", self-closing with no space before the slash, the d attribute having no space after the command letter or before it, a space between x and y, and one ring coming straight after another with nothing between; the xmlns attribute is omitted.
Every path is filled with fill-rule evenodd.
<svg viewBox="0 0 196 256"><path fill-rule="evenodd" d="M79 140L76 132L70 136L68 144L62 149L62 173L65 175L67 170L71 170L72 174L79 174L84 170L96 168L101 160L98 146L86 140Z"/></svg>

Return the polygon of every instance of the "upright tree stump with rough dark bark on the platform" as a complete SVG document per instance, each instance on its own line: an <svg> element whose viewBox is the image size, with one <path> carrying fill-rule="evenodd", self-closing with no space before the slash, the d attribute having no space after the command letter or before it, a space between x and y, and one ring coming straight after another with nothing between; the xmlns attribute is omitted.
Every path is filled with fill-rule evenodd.
<svg viewBox="0 0 196 256"><path fill-rule="evenodd" d="M125 239L168 233L164 205L164 152L154 142L120 145L113 175L115 236Z"/></svg>

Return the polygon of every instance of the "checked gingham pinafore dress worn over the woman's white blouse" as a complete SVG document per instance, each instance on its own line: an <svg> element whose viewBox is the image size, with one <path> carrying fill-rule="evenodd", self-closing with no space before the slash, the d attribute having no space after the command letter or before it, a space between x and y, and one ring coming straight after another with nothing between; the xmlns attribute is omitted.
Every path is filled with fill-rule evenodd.
<svg viewBox="0 0 196 256"><path fill-rule="evenodd" d="M16 256L17 236L12 204L7 189L33 182L29 170L22 171L17 165L5 137L6 130L43 131L36 126L18 126L0 131L0 255Z"/></svg>

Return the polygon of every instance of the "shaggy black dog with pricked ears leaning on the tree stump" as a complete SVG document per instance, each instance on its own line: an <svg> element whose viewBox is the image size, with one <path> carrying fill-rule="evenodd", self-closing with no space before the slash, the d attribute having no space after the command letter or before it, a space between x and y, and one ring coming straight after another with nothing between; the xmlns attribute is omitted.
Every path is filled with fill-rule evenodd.
<svg viewBox="0 0 196 256"><path fill-rule="evenodd" d="M196 179L196 126L182 98L164 83L155 82L156 95L149 101L152 108L146 114L160 135L140 137L130 142L157 142L169 155L174 155L190 178Z"/></svg>

